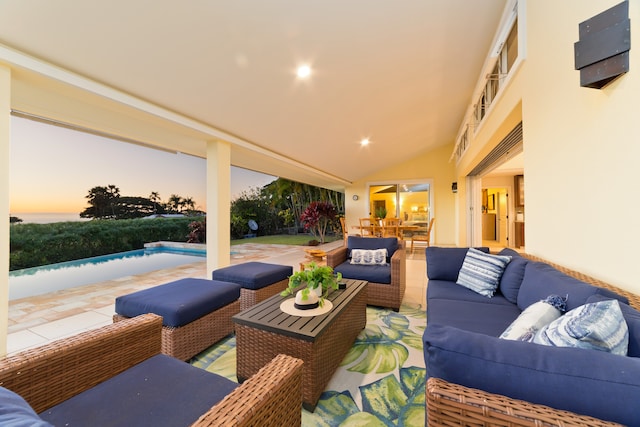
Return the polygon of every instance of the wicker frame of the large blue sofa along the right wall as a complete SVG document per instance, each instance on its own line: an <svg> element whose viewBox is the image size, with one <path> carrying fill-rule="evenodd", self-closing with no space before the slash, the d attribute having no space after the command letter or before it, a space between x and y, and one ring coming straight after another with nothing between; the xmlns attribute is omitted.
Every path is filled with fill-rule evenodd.
<svg viewBox="0 0 640 427"><path fill-rule="evenodd" d="M524 257L545 262L578 280L609 289L629 299L629 305L640 309L640 296L542 258ZM429 378L426 387L428 426L617 426L597 418L549 408L522 400L488 393L439 378Z"/></svg>

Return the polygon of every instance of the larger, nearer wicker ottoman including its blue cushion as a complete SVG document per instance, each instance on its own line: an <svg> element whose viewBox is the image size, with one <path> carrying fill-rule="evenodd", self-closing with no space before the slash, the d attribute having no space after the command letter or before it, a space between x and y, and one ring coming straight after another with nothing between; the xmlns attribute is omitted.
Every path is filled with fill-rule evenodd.
<svg viewBox="0 0 640 427"><path fill-rule="evenodd" d="M162 316L162 353L188 360L233 333L239 297L235 283L180 279L116 298L113 321L145 313Z"/></svg>

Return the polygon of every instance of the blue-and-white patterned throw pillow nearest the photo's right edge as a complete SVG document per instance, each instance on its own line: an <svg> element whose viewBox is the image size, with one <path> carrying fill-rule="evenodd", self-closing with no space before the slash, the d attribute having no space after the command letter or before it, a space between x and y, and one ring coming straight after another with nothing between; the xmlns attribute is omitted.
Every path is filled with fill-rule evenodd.
<svg viewBox="0 0 640 427"><path fill-rule="evenodd" d="M629 330L617 300L584 304L538 331L537 344L627 355Z"/></svg>

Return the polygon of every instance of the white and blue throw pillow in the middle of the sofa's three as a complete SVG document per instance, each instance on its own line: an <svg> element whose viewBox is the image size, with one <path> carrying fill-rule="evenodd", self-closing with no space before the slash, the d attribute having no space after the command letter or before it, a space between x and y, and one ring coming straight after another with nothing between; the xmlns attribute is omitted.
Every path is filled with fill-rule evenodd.
<svg viewBox="0 0 640 427"><path fill-rule="evenodd" d="M533 341L542 327L553 322L567 309L566 302L557 295L549 295L527 307L516 320L500 335L500 338L514 341Z"/></svg>

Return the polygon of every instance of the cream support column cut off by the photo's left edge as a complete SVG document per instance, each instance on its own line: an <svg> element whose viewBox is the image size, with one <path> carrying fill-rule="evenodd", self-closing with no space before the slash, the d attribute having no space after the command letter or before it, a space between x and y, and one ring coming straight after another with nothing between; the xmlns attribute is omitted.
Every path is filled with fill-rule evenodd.
<svg viewBox="0 0 640 427"><path fill-rule="evenodd" d="M9 330L9 143L11 70L0 65L0 357L7 354Z"/></svg>

